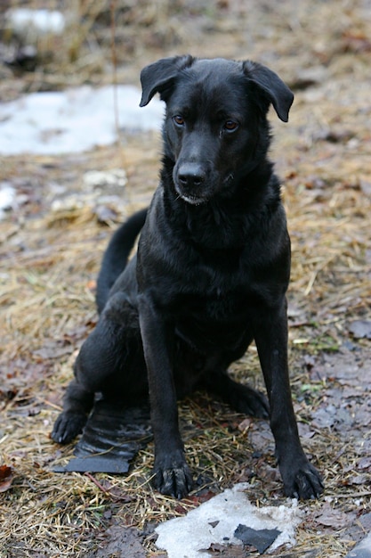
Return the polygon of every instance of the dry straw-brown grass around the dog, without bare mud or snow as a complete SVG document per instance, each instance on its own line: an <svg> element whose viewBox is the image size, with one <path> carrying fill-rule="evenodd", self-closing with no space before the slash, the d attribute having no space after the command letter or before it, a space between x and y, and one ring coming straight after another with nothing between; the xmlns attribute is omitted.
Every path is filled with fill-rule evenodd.
<svg viewBox="0 0 371 558"><path fill-rule="evenodd" d="M36 0L28 4L43 5ZM357 31L362 39L362 33L369 29L369 18L365 19L360 2L343 2L340 10L335 2L323 3L317 12L305 2L294 12L295 19L290 12L293 4L287 2L279 23L272 22L274 11L267 9L265 13L264 29L273 33L267 50L265 40L255 44L246 39L243 23L255 37L254 21L246 17L243 3L221 3L230 5L230 11L223 12L228 16L224 19L215 17L211 4L206 3L202 9L192 7L190 13L198 18L195 16L193 27L184 29L175 25L175 8L184 9L181 2L174 3L173 10L165 1L157 2L156 8L141 2L132 5L117 0L114 4L117 11L122 11L121 20L117 20L121 21L117 30L119 79L137 79L144 60L183 52L190 45L196 53L203 48L206 54L213 53L217 44L219 53L226 55L245 56L248 50L248 55L261 57L262 62L268 63L271 58L270 66L276 66L293 81L298 67L311 65L310 59L312 63L328 64L325 83L296 94L290 124L284 127L275 123L277 139L272 151L285 183L284 200L293 242L290 361L295 408L305 423L311 416L311 406L319 405L321 392L316 392L311 403L299 397L302 384L310 383L302 355L334 349L347 338L347 321L370 317L369 66L368 54L362 49L356 52L349 38ZM60 63L53 59L45 63L41 73L24 77L25 89L111 79L112 74L103 70L111 54L109 2L76 2L74 6L75 11L89 14L77 43L71 43L73 33L63 37L66 45L61 49ZM140 12L138 6L145 9ZM261 16L262 8L256 10ZM339 12L337 18L335 12ZM289 21L287 13L291 13ZM182 18L184 23L184 15ZM199 39L208 37L205 21L213 22L210 33L217 40L203 44ZM259 29L262 31L262 26ZM344 29L348 35L344 35ZM85 37L92 33L95 43L89 58ZM324 41L328 42L323 45ZM276 52L280 57L273 61ZM133 56L134 63L129 60ZM97 72L100 64L101 74ZM19 91L18 82L15 85L10 75L7 83L8 93ZM334 134L334 141L321 139L328 130ZM102 250L115 226L113 221L99 222L99 195L85 196L82 177L88 169L125 168L128 185L121 201L111 207L116 211L114 221L119 222L149 201L157 183L159 151L157 135L142 135L125 137L122 147L81 156L2 160L0 181L17 185L26 202L0 222L0 455L1 464L12 467L13 475L12 487L0 495L1 556L89 555L112 517L123 525L143 529L199 504L200 499L193 496L179 503L153 492L149 485L151 445L141 451L126 477L59 476L52 472L52 465L64 462L72 452L72 446L61 448L52 443L49 433L77 350L96 321L94 280ZM53 184L64 185L65 191L56 193ZM52 201L71 194L84 201L81 207L52 210ZM367 341L363 346L367 348ZM248 376L249 382L262 387L254 348L235 366L234 373L241 379ZM260 461L251 456L254 445L249 431L254 431L254 422L240 430L238 425L244 417L203 395L183 402L180 409L187 455L206 491L249 479L251 497L257 504L283 501L280 483L263 464L274 466L271 451L267 450ZM325 429L304 439L304 446L324 472L326 494L335 505L345 512L367 510L367 485L354 489L346 486L346 477L353 474L357 459L354 447L350 445L344 452L343 439ZM344 540L341 531L319 532L311 520L323 500L301 505L308 515L298 530L295 552L300 555L320 548L321 555L344 556L352 546L351 540ZM156 555L150 537L147 544L149 555Z"/></svg>

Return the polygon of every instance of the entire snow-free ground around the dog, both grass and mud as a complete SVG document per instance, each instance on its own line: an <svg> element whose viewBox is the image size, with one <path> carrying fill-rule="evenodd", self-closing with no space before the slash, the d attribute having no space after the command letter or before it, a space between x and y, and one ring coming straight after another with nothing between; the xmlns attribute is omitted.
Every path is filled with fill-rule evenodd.
<svg viewBox="0 0 371 558"><path fill-rule="evenodd" d="M251 58L293 88L290 122L270 115L271 158L282 177L293 242L294 406L303 446L326 490L319 501L300 503L297 545L275 555L345 556L371 529L371 3L111 4L116 29L109 3L101 2L91 40L82 39L75 58L60 50L64 65L54 56L32 72L14 74L4 66L0 95L109 83L115 64L119 82L137 84L144 64L185 52ZM92 37L99 45L93 51ZM1 53L15 51L14 42L2 43ZM0 182L16 188L18 204L0 221L0 556L159 556L158 521L238 481L251 483L257 505L285 501L268 424L246 420L205 394L180 406L198 479L187 500L174 502L150 488L151 445L125 477L52 472L72 455L72 446L52 443L50 431L78 348L97 320L94 281L102 250L117 223L148 203L160 149L155 133L122 134L119 144L93 152L1 158ZM113 168L125 168L124 189L86 191L87 170ZM262 388L254 348L232 373ZM210 555L236 555L230 552L211 549Z"/></svg>

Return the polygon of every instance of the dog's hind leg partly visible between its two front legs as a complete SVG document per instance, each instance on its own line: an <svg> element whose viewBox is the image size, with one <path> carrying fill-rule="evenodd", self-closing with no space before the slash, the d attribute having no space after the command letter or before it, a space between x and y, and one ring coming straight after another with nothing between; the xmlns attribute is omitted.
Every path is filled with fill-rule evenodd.
<svg viewBox="0 0 371 558"><path fill-rule="evenodd" d="M267 398L257 390L235 382L225 371L208 373L203 380L206 390L222 398L238 413L258 418L270 417L270 406Z"/></svg>

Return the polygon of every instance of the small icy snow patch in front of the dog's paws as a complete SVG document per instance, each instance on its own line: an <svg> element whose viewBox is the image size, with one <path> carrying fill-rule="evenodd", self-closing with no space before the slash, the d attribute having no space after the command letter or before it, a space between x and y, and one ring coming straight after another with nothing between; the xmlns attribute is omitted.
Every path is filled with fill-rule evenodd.
<svg viewBox="0 0 371 558"><path fill-rule="evenodd" d="M202 558L213 543L241 545L241 541L233 535L239 524L251 529L280 530L281 534L268 552L284 544L293 546L295 527L302 521L302 511L297 507L297 501L291 500L287 505L277 507L257 508L249 502L244 492L248 486L247 483L237 484L184 517L161 523L155 529L158 535L157 547L165 550L169 558ZM229 537L229 540L225 537Z"/></svg>

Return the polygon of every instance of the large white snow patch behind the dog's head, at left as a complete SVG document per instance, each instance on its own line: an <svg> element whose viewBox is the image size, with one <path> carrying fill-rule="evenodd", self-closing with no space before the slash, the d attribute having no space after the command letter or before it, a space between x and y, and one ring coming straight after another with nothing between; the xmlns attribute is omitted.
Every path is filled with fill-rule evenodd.
<svg viewBox="0 0 371 558"><path fill-rule="evenodd" d="M59 155L84 152L117 141L115 94L121 134L158 129L164 103L140 108L134 86L78 87L34 93L0 104L0 156L21 153Z"/></svg>

